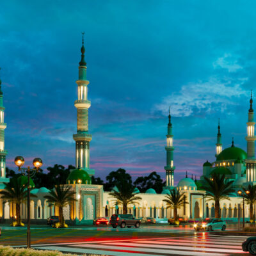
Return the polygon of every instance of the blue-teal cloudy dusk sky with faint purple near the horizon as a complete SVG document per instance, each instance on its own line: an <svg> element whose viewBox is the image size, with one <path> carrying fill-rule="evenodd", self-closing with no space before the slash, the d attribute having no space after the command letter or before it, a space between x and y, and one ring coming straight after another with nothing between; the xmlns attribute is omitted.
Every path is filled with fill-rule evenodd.
<svg viewBox="0 0 256 256"><path fill-rule="evenodd" d="M133 179L153 171L165 179L169 106L175 184L215 160L218 118L223 148L234 137L246 150L255 8L236 0L1 1L6 166L15 169L15 156L27 166L41 157L45 170L75 164L82 31L96 177L124 168Z"/></svg>

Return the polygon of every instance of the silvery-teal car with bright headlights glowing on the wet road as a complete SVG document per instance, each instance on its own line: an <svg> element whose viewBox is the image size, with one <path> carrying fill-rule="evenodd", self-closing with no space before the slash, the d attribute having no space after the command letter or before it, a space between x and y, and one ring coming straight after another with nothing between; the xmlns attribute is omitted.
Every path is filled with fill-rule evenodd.
<svg viewBox="0 0 256 256"><path fill-rule="evenodd" d="M198 223L194 224L194 229L196 231L205 230L205 231L212 231L212 230L226 230L227 223L225 220L221 219L205 219L198 221Z"/></svg>

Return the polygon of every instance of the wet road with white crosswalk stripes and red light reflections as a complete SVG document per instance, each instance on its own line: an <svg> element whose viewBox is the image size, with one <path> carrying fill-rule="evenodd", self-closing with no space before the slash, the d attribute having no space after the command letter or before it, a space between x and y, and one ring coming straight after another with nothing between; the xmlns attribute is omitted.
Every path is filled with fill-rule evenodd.
<svg viewBox="0 0 256 256"><path fill-rule="evenodd" d="M224 256L248 255L241 250L246 237L195 232L188 226L32 227L33 248L61 252L97 253L113 256ZM2 227L1 244L26 244L26 228Z"/></svg>

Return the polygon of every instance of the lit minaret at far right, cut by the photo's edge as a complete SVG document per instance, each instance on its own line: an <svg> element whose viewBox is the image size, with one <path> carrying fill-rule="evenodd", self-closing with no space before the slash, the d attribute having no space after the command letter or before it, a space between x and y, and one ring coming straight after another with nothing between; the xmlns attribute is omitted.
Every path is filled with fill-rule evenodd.
<svg viewBox="0 0 256 256"><path fill-rule="evenodd" d="M246 180L248 182L256 182L256 159L255 159L255 140L254 135L254 113L252 108L252 90L250 99L250 109L248 112L248 122L247 124L247 136L245 137L247 141L247 159L246 159Z"/></svg>

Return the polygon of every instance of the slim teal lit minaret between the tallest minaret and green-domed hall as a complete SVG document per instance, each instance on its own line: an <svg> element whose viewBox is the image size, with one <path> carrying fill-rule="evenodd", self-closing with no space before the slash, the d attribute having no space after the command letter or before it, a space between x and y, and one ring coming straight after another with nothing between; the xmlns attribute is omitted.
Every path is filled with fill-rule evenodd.
<svg viewBox="0 0 256 256"><path fill-rule="evenodd" d="M173 172L175 170L175 166L173 166L173 134L172 134L172 123L171 123L171 113L169 107L169 123L167 128L167 145L165 147L166 150L166 166L164 166L164 170L166 170L166 188L173 187Z"/></svg>

